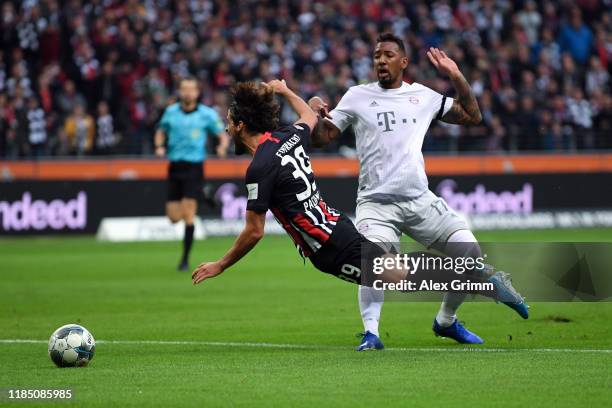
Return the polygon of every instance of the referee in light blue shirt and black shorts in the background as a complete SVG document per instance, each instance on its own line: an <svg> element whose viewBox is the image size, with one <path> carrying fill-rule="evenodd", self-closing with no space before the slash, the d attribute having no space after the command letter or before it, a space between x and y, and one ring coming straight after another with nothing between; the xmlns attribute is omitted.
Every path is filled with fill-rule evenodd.
<svg viewBox="0 0 612 408"><path fill-rule="evenodd" d="M189 252L197 199L202 194L208 134L220 138L217 155L225 157L229 145L223 121L214 109L199 103L199 97L197 79L181 79L179 101L166 108L155 132L155 154L170 160L166 215L172 223L185 221L179 271L190 269Z"/></svg>

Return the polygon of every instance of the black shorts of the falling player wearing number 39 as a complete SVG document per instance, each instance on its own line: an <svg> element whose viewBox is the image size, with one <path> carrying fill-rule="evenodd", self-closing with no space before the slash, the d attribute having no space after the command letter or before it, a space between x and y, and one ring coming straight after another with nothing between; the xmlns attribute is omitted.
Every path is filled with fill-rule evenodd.
<svg viewBox="0 0 612 408"><path fill-rule="evenodd" d="M387 251L361 235L351 220L342 215L331 237L310 257L310 262L322 272L351 283L367 285L370 279L362 276L362 262L385 253Z"/></svg>

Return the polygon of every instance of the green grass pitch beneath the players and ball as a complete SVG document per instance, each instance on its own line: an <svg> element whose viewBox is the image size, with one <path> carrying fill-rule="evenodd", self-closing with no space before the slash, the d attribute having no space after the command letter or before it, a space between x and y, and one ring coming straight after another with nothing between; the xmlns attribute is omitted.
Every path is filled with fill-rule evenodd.
<svg viewBox="0 0 612 408"><path fill-rule="evenodd" d="M477 235L612 241L603 229ZM192 261L216 259L231 242L196 242ZM610 404L610 303L536 303L527 321L493 302L467 303L460 319L485 339L470 348L433 336L438 304L388 302L387 350L357 353L356 287L304 265L288 238L264 238L197 287L174 270L179 250L177 242L90 237L0 240L3 392L74 390L70 402L28 406ZM96 356L90 367L58 369L46 340L72 322L94 334Z"/></svg>

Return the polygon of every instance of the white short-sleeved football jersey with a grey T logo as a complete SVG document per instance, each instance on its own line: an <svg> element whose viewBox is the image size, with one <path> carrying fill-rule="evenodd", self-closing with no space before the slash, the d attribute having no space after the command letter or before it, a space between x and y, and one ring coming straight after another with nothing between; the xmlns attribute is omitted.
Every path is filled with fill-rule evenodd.
<svg viewBox="0 0 612 408"><path fill-rule="evenodd" d="M355 133L359 158L357 199L415 198L428 189L423 139L453 100L419 83L384 89L378 82L351 87L330 112L341 131Z"/></svg>

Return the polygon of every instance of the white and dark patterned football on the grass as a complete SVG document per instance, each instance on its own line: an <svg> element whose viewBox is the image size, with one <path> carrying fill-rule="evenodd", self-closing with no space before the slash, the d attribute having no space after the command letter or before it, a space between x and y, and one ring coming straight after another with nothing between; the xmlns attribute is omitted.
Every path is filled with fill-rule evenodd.
<svg viewBox="0 0 612 408"><path fill-rule="evenodd" d="M49 357L58 367L84 367L95 349L96 342L89 330L78 324L60 327L49 339Z"/></svg>

